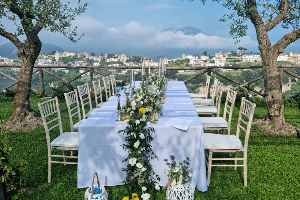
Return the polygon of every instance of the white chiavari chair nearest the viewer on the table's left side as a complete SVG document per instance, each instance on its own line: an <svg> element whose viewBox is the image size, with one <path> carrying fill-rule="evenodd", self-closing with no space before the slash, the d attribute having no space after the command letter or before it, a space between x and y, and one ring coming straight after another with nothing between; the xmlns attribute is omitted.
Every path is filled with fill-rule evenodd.
<svg viewBox="0 0 300 200"><path fill-rule="evenodd" d="M47 100L43 103L37 103L41 113L43 125L45 128L47 148L48 148L48 182L51 181L51 163L62 164L77 164L74 162L67 162L67 158L78 158L77 156L66 156L65 151L78 151L78 132L65 132L63 133L62 120L58 105L58 98ZM53 117L54 115L54 117ZM59 128L59 136L52 142L50 140L49 131L53 128ZM52 154L54 149L63 150L63 155ZM52 161L51 158L63 158L61 161Z"/></svg>

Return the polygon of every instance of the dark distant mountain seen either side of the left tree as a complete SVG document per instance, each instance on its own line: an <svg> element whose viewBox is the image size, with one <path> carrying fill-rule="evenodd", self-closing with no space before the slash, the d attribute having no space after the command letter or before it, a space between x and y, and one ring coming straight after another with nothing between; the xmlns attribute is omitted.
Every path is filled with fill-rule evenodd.
<svg viewBox="0 0 300 200"><path fill-rule="evenodd" d="M64 52L64 50L61 47L58 47L54 44L45 44L42 42L42 49L41 53L45 52L51 52L51 51L59 51ZM12 42L6 42L0 46L0 56L6 57L6 58L18 58L17 56L17 47Z"/></svg>

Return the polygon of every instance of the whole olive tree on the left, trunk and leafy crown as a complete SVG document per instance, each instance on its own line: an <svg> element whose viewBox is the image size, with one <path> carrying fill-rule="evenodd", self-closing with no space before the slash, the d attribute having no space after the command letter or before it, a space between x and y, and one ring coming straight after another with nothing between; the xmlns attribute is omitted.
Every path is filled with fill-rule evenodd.
<svg viewBox="0 0 300 200"><path fill-rule="evenodd" d="M60 0L0 0L0 21L7 18L15 25L14 32L8 32L0 23L0 35L6 37L17 47L17 55L21 58L20 75L14 98L13 112L9 123L22 122L27 115L34 114L30 107L29 95L34 63L40 53L42 43L38 33L43 29L50 32L59 32L70 41L76 42L77 27L71 28L71 22L80 13L85 12L88 3L77 7L63 4ZM22 42L19 36L26 39Z"/></svg>

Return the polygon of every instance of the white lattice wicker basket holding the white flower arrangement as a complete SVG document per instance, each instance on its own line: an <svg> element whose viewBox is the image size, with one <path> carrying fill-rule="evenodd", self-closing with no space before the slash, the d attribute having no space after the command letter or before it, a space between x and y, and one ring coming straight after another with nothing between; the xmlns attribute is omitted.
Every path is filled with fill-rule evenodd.
<svg viewBox="0 0 300 200"><path fill-rule="evenodd" d="M190 183L172 185L167 188L167 200L193 200L194 191Z"/></svg>

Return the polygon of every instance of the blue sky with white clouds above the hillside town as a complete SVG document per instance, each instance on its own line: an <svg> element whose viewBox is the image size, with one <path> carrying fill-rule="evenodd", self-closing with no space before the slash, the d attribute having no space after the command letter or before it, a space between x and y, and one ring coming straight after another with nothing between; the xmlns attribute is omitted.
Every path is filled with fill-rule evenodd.
<svg viewBox="0 0 300 200"><path fill-rule="evenodd" d="M72 0L76 5L78 1ZM83 1L82 1L83 2ZM85 13L78 16L73 26L84 32L84 37L77 43L72 43L59 33L41 31L39 37L44 43L58 45L65 51L100 53L125 53L156 57L164 55L168 58L181 57L185 54L202 54L207 51L213 54L218 51L236 51L238 44L229 34L230 22L220 22L219 19L228 10L216 2L187 0L86 0L89 3ZM7 19L1 23L12 31L13 24ZM247 36L241 38L240 46L247 52L259 52L254 26L247 22ZM162 32L173 27L194 26L208 35L199 33L194 36L182 32ZM277 42L285 30L278 25L269 32L272 43ZM20 39L24 39L20 37ZM0 37L0 44L8 42ZM297 40L286 48L286 52L300 52L300 42Z"/></svg>

